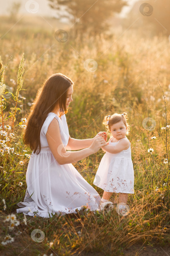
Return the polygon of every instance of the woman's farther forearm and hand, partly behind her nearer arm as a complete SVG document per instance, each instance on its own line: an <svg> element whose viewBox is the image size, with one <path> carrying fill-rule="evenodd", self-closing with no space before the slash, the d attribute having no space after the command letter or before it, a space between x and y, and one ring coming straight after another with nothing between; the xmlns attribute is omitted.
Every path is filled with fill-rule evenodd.
<svg viewBox="0 0 170 256"><path fill-rule="evenodd" d="M99 133L100 133L100 136L103 136L103 138L106 137L105 134L107 134L107 133L105 133L105 132L99 132ZM92 139L85 139L85 140L78 140L78 139L70 138L70 135L69 135L69 141L68 141L68 144L65 147L65 149L70 150L70 148L71 148L71 150L80 150L82 148L90 147L90 145L92 144L94 139L98 137L97 135Z"/></svg>

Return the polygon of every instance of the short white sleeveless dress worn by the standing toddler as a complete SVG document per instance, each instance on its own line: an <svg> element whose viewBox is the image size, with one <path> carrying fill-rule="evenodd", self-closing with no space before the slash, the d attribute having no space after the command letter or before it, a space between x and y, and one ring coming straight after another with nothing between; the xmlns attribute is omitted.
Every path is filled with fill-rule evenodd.
<svg viewBox="0 0 170 256"><path fill-rule="evenodd" d="M119 143L119 141L111 141L109 142L110 146L116 146ZM93 184L107 192L134 193L134 168L131 158L131 143L127 150L116 154L106 151L98 166Z"/></svg>

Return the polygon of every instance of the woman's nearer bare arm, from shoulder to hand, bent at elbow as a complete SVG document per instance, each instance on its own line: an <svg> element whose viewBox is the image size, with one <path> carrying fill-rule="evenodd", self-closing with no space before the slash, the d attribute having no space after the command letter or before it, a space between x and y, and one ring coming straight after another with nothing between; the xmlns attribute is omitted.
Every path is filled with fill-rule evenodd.
<svg viewBox="0 0 170 256"><path fill-rule="evenodd" d="M107 145L105 140L99 136L93 140L91 146L88 148L73 152L66 151L61 140L59 124L56 118L51 121L46 133L46 138L54 158L60 165L64 165L66 163L75 163L91 154L96 153L101 148L101 142L103 142L103 145ZM72 148L70 150L72 150Z"/></svg>

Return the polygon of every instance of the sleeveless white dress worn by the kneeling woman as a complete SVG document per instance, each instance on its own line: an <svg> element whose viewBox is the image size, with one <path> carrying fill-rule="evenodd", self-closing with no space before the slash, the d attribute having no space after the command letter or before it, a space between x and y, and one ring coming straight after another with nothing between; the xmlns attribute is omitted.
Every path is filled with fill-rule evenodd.
<svg viewBox="0 0 170 256"><path fill-rule="evenodd" d="M40 154L32 151L28 163L26 195L24 202L17 204L22 207L16 209L17 213L34 216L37 212L36 215L48 218L55 212L57 215L76 213L76 209L81 210L83 206L95 211L100 204L100 195L72 163L59 165L51 153L46 132L54 118L58 120L63 145L66 147L68 144L69 129L65 114L59 118L57 114L50 112L40 132Z"/></svg>

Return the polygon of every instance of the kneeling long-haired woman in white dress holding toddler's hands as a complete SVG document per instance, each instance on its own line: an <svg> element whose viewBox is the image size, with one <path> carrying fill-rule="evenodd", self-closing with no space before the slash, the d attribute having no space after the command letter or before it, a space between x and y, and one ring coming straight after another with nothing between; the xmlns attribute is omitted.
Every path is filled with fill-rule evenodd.
<svg viewBox="0 0 170 256"><path fill-rule="evenodd" d="M70 138L65 114L72 94L73 81L58 73L50 76L36 95L23 137L33 150L26 172L27 190L24 202L17 204L22 207L17 213L48 218L55 212L76 213L82 206L97 210L100 204L100 195L72 163L107 145L106 138Z"/></svg>

